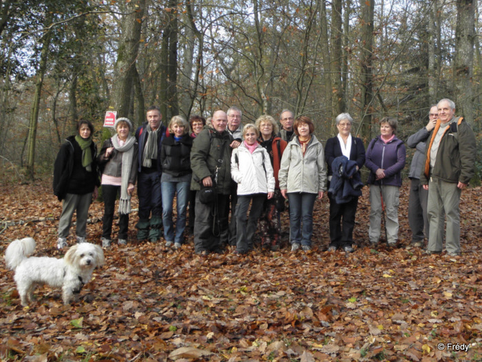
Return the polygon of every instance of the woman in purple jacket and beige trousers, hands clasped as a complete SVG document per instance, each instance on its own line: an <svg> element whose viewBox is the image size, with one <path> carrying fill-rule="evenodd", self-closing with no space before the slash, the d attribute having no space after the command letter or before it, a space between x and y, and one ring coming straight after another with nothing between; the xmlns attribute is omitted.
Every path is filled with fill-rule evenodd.
<svg viewBox="0 0 482 362"><path fill-rule="evenodd" d="M366 151L365 166L370 169L370 244L380 239L381 213L385 208L385 228L388 246L395 246L398 239L398 206L401 187L401 170L405 167L404 142L395 136L397 120L382 118L380 136L371 140Z"/></svg>

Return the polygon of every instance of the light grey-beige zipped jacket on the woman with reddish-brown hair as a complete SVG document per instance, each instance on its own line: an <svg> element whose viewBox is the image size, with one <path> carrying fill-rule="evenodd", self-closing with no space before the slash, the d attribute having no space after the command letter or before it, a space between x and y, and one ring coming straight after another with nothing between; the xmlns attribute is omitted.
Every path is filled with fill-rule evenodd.
<svg viewBox="0 0 482 362"><path fill-rule="evenodd" d="M315 135L303 155L297 136L284 149L281 159L280 189L290 192L318 193L326 191L326 167L323 145Z"/></svg>

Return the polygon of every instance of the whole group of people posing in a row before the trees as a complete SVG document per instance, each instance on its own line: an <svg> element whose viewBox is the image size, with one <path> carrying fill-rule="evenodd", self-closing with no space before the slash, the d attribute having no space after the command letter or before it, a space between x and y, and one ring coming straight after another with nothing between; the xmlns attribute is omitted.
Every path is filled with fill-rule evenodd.
<svg viewBox="0 0 482 362"><path fill-rule="evenodd" d="M452 100L441 100L430 108L428 125L407 141L416 148L409 173L412 244L423 246L428 237L427 253L443 250L445 217L446 250L450 255L461 253L459 200L461 189L474 174L476 142L470 126L454 113ZM57 247L67 245L74 211L77 241L85 241L87 211L101 185L105 204L102 244L111 244L116 198L118 244L126 244L130 199L137 182L138 240L156 242L163 229L165 245L180 248L189 204L189 227L197 254L218 253L227 245L235 245L234 253L248 253L256 231L262 248L276 251L286 199L291 251L309 251L314 205L327 193L328 251L351 253L364 186L363 166L370 171L366 182L370 189L370 243L379 243L384 215L388 246L397 244L406 147L396 136L395 118L380 120L380 134L366 151L363 141L352 136L353 118L348 113L337 116L338 134L329 138L325 147L314 134L313 120L295 118L287 109L280 114L281 129L268 115L246 125L241 120L241 110L231 107L227 112L215 111L209 124L201 116L191 117L190 123L174 116L166 128L158 107L149 107L147 122L138 127L135 136L131 121L118 118L116 134L105 140L98 156L92 123L81 120L78 134L67 138L55 163L54 193L63 201Z"/></svg>

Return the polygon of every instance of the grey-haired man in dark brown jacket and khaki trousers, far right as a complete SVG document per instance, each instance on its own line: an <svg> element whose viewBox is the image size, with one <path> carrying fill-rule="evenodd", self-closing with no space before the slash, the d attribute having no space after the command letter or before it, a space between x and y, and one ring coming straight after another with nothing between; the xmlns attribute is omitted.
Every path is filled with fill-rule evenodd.
<svg viewBox="0 0 482 362"><path fill-rule="evenodd" d="M446 216L446 250L455 257L460 249L460 195L474 175L476 140L463 118L455 117L455 103L444 98L437 104L439 119L428 138L426 163L420 183L428 190L428 254L443 249Z"/></svg>

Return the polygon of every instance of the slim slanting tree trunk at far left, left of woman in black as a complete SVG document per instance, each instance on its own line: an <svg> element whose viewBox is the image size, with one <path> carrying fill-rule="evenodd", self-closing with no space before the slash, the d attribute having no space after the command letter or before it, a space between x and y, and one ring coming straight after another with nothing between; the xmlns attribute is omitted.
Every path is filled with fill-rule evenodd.
<svg viewBox="0 0 482 362"><path fill-rule="evenodd" d="M52 22L52 14L45 19L45 24ZM39 70L36 74L35 80L35 92L34 100L32 102L32 111L30 113L30 123L28 125L28 136L27 136L27 164L25 165L27 171L27 179L30 181L34 180L34 165L35 165L35 142L36 142L36 131L39 122L39 107L40 107L40 97L42 94L43 86L43 76L45 76L45 70L47 69L47 61L49 56L51 33L47 32L43 37L43 47L40 55Z"/></svg>

